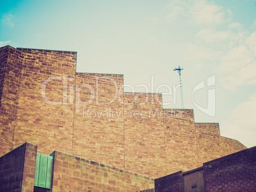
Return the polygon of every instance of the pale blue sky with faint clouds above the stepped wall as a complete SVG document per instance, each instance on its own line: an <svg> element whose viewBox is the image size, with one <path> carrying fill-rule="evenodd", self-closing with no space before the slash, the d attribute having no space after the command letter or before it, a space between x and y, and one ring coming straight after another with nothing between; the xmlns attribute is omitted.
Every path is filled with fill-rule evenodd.
<svg viewBox="0 0 256 192"><path fill-rule="evenodd" d="M78 72L124 74L136 92L178 85L196 122L256 145L256 1L3 1L0 46L78 51ZM216 75L216 116L192 102L197 83ZM131 91L125 88L126 91ZM161 88L160 92L166 92ZM173 102L173 95L164 102ZM207 88L194 94L207 106ZM177 104L164 107L180 108Z"/></svg>

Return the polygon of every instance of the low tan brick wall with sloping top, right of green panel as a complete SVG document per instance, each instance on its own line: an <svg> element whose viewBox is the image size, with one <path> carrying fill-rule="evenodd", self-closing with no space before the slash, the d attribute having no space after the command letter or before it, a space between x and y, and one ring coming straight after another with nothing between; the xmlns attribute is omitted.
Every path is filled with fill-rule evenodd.
<svg viewBox="0 0 256 192"><path fill-rule="evenodd" d="M154 180L126 170L53 152L52 191L139 191L154 187Z"/></svg>

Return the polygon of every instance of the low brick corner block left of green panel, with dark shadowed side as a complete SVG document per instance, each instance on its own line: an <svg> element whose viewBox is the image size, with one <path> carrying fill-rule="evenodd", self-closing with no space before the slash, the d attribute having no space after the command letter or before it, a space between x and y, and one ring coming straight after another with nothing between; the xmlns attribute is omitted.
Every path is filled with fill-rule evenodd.
<svg viewBox="0 0 256 192"><path fill-rule="evenodd" d="M37 146L25 143L0 158L0 191L34 191Z"/></svg>

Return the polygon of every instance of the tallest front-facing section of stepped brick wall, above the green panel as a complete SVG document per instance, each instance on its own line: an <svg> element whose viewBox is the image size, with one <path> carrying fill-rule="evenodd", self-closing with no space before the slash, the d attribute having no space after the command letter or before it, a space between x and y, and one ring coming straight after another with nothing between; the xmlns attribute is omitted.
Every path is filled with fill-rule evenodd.
<svg viewBox="0 0 256 192"><path fill-rule="evenodd" d="M20 48L24 55L20 80L15 146L26 141L36 143L39 153L53 149L72 153L73 111L69 102L69 85L75 84L76 53L69 51L31 50ZM55 79L48 79L55 77ZM57 79L59 78L59 79ZM42 86L46 79L45 95ZM44 99L61 102L47 104Z"/></svg>

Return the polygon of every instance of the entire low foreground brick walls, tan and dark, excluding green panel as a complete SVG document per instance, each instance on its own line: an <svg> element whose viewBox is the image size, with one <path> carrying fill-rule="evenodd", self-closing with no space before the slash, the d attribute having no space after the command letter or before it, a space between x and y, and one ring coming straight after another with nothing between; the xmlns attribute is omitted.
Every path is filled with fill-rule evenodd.
<svg viewBox="0 0 256 192"><path fill-rule="evenodd" d="M153 179L78 156L53 152L52 189L34 188L37 146L26 142L0 157L0 191L253 191L256 146L188 172Z"/></svg>

